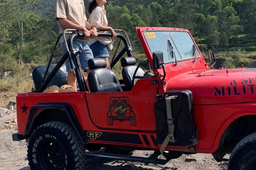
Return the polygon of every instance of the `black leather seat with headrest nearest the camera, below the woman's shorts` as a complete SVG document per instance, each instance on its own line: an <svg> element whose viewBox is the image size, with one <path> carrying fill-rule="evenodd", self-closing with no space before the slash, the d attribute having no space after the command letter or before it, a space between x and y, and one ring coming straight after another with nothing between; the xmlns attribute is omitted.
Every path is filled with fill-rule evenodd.
<svg viewBox="0 0 256 170"><path fill-rule="evenodd" d="M88 60L88 83L91 92L122 92L122 87L115 73L107 69L107 63L103 58Z"/></svg>

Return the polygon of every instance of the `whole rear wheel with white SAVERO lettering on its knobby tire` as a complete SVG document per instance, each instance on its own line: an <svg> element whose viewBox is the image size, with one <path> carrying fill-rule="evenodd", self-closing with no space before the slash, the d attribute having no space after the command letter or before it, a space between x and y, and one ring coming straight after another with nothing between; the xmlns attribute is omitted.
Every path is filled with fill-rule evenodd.
<svg viewBox="0 0 256 170"><path fill-rule="evenodd" d="M73 127L49 122L32 133L27 156L31 170L84 170L85 151Z"/></svg>

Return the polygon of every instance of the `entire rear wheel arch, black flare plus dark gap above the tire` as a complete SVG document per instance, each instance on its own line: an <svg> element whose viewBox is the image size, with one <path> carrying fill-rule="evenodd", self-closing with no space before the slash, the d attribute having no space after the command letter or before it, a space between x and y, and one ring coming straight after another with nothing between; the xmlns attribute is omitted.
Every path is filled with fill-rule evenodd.
<svg viewBox="0 0 256 170"><path fill-rule="evenodd" d="M53 121L73 126L83 144L88 143L85 133L69 103L39 103L29 111L24 136L31 134L37 127Z"/></svg>

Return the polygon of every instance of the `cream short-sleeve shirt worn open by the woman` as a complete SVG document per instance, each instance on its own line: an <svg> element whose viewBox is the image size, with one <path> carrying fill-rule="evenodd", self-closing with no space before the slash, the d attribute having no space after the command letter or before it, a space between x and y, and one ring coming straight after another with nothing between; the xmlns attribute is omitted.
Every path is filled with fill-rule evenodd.
<svg viewBox="0 0 256 170"><path fill-rule="evenodd" d="M104 6L99 7L97 6L91 13L88 23L99 28L100 26L108 26L108 20L106 16L106 10ZM89 44L93 44L94 42L99 41L104 45L111 43L111 41L106 37L96 37L94 39L89 40Z"/></svg>

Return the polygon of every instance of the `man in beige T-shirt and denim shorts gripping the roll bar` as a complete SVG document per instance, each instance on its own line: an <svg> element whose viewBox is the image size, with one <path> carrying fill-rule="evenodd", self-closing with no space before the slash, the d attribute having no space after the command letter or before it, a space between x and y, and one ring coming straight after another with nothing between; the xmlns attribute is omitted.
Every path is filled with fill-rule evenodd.
<svg viewBox="0 0 256 170"><path fill-rule="evenodd" d="M73 41L74 48L81 53L79 55L79 61L81 63L81 68L89 73L88 69L88 60L93 58L93 54L91 49L88 47L87 39L88 38L96 38L97 37L97 29L95 26L92 26L87 22L87 18L85 16L85 7L83 0L54 0L55 6L55 19L58 22L60 28L60 34L63 33L65 29L76 29L80 30L84 33L84 38L76 38ZM66 35L66 39L68 40L70 35ZM64 44L64 40L61 39L61 49L63 54L66 53L66 47ZM68 71L68 80L67 84L74 87L77 91L76 87L76 75L73 74L69 59L67 59L66 69ZM86 82L87 83L87 82ZM88 83L87 83L88 86ZM89 86L88 86L89 89Z"/></svg>

